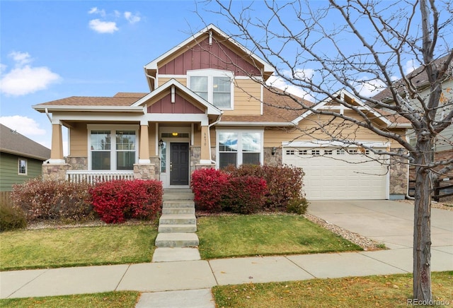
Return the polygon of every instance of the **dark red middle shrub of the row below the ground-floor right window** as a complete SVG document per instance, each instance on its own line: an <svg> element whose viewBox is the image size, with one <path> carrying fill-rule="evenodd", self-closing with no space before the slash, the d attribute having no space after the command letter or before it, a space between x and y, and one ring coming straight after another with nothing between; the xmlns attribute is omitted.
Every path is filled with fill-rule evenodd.
<svg viewBox="0 0 453 308"><path fill-rule="evenodd" d="M251 214L263 210L267 192L265 179L253 176L231 177L222 196L222 209Z"/></svg>

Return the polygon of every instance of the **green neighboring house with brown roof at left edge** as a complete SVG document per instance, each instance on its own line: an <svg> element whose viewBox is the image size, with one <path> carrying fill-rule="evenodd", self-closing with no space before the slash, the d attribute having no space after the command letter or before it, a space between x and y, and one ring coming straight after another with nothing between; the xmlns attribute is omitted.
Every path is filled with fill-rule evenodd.
<svg viewBox="0 0 453 308"><path fill-rule="evenodd" d="M42 162L49 158L50 149L0 124L0 191L41 177Z"/></svg>

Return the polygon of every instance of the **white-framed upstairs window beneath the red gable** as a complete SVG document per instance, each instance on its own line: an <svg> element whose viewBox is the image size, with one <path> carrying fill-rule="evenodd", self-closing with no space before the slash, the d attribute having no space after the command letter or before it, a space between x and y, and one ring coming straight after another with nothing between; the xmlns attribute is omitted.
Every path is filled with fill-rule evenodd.
<svg viewBox="0 0 453 308"><path fill-rule="evenodd" d="M234 75L231 71L200 69L188 71L188 88L219 109L233 109Z"/></svg>

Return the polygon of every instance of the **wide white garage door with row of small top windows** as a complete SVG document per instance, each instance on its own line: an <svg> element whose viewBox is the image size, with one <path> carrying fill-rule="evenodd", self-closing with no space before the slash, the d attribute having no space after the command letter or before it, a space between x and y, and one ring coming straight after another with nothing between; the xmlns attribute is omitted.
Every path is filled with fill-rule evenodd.
<svg viewBox="0 0 453 308"><path fill-rule="evenodd" d="M304 170L309 200L388 199L387 167L367 156L355 149L283 148L283 163Z"/></svg>

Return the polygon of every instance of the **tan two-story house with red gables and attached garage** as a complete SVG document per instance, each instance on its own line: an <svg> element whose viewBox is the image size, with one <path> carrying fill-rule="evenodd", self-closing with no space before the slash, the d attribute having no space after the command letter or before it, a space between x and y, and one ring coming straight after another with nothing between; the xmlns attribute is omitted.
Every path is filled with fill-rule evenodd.
<svg viewBox="0 0 453 308"><path fill-rule="evenodd" d="M388 172L386 165L366 159L362 148L345 148L322 134L323 141L305 136L327 117L306 112L252 80L267 80L273 72L270 64L209 25L144 66L149 93L67 97L33 106L52 114L52 156L43 174L72 181L154 178L165 188L181 188L190 185L197 168L290 164L304 168L308 199L403 198L406 165L391 165ZM336 95L375 113L344 90ZM356 115L328 100L317 108ZM405 134L405 124L382 117L374 121ZM62 126L69 129L67 161ZM374 148L399 147L366 129L349 129Z"/></svg>

